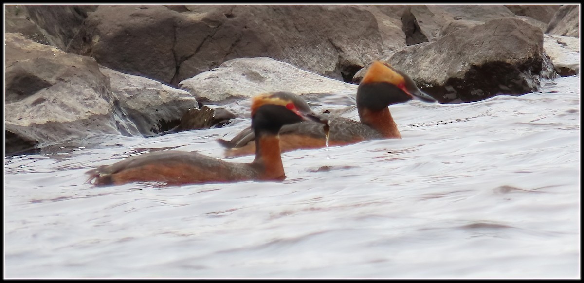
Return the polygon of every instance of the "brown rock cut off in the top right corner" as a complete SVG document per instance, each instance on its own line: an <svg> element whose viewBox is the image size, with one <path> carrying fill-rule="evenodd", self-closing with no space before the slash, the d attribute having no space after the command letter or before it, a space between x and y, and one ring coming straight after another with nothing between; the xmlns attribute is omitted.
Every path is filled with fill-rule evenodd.
<svg viewBox="0 0 584 283"><path fill-rule="evenodd" d="M571 36L580 38L580 6L563 5L550 20L545 33L555 36Z"/></svg>

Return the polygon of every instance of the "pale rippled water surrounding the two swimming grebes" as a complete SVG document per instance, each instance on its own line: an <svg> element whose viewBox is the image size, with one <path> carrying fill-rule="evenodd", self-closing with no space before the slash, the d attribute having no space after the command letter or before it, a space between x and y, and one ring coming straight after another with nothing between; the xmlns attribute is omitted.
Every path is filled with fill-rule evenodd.
<svg viewBox="0 0 584 283"><path fill-rule="evenodd" d="M350 96L311 99L357 118ZM282 183L85 183L152 148L223 158L243 119L5 157L5 278L580 277L579 76L390 110L403 139L283 153Z"/></svg>

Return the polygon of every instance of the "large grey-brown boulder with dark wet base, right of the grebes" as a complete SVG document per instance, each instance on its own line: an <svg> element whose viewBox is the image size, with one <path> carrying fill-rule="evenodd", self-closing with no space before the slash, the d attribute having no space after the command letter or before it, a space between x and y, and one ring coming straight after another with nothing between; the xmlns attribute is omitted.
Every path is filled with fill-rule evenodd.
<svg viewBox="0 0 584 283"><path fill-rule="evenodd" d="M520 19L502 18L457 30L432 43L401 48L386 61L409 74L441 102L473 102L499 94L534 92L556 74L543 33ZM360 81L366 68L357 72Z"/></svg>

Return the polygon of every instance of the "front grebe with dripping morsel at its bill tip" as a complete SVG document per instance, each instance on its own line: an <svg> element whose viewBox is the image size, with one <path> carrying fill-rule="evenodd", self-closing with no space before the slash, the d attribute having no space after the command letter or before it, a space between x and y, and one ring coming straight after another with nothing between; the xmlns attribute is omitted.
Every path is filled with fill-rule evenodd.
<svg viewBox="0 0 584 283"><path fill-rule="evenodd" d="M256 156L251 163L225 162L187 151L149 152L87 172L97 185L155 181L165 184L227 183L245 180L283 180L279 131L283 125L326 120L314 113L300 96L288 92L252 98L252 129Z"/></svg>

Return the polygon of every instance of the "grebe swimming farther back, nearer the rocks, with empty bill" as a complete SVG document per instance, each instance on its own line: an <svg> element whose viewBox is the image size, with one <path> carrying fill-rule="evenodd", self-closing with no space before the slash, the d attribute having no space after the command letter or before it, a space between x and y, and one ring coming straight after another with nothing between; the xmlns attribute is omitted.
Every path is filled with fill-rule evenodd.
<svg viewBox="0 0 584 283"><path fill-rule="evenodd" d="M408 75L391 65L374 61L357 87L359 121L326 116L330 124L329 145L346 145L369 139L401 138L388 106L418 99L436 102L418 89ZM246 128L231 141L218 139L227 156L250 155L255 151L253 130ZM281 150L322 148L326 146L322 125L312 121L285 125L280 130Z"/></svg>

